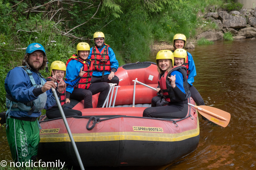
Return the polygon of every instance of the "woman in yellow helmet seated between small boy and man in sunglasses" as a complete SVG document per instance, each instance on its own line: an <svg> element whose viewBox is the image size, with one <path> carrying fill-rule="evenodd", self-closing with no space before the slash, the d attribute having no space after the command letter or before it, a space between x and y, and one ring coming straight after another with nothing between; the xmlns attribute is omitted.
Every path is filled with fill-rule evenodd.
<svg viewBox="0 0 256 170"><path fill-rule="evenodd" d="M102 107L108 96L109 84L106 82L92 84L93 63L88 59L89 51L89 44L80 42L76 46L76 54L68 59L66 63L67 81L76 78L82 67L85 74L74 88L67 87L66 96L75 100L84 100L84 108L92 108L92 95L100 93L97 107Z"/></svg>

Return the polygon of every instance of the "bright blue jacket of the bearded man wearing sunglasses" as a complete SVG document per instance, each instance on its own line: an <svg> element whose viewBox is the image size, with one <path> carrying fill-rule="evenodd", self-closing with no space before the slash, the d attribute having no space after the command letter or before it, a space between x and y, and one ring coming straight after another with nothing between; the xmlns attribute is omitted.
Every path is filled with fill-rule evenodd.
<svg viewBox="0 0 256 170"><path fill-rule="evenodd" d="M88 59L91 59L92 48L90 48L90 54L88 56ZM102 49L104 49L104 48L105 48L105 45L102 48L98 48L98 49L101 52ZM116 70L118 69L119 64L118 64L118 61L116 60L116 55L115 55L114 51L110 47L108 47L108 56L109 56L109 61L111 63L111 71L116 72ZM113 68L115 68L115 69L113 70ZM105 71L104 75L110 74L111 71ZM102 76L102 72L93 71L92 76Z"/></svg>

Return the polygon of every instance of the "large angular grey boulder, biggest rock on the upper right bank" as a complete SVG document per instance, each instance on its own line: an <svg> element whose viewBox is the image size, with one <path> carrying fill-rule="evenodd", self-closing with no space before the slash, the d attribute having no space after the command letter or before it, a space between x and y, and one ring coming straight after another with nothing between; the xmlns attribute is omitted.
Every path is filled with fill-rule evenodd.
<svg viewBox="0 0 256 170"><path fill-rule="evenodd" d="M244 28L246 27L246 18L233 16L226 11L219 11L219 19L223 24L223 28Z"/></svg>

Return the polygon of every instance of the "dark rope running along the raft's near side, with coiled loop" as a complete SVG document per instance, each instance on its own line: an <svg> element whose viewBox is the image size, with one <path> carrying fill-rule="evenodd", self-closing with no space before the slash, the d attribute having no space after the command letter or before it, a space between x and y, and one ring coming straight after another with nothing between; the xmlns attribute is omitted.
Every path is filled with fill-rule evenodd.
<svg viewBox="0 0 256 170"><path fill-rule="evenodd" d="M189 102L190 102L190 99L189 99ZM184 119L187 119L187 118L191 118L193 120L193 117L191 116L190 114L190 108L191 106L189 106L189 114L188 116L182 118L182 119L179 119L179 120L173 120L173 119L162 119L162 118L153 118L153 117L139 117L139 116L115 116L115 117L109 117L109 118L105 118L105 119L100 119L99 117L95 117L95 116L66 116L66 118L70 118L70 117L76 117L76 118L84 118L84 119L89 119L88 122L87 122L87 125L86 125L86 129L87 130L92 130L95 126L96 123L99 123L99 122L102 122L102 121L106 121L106 120L110 120L110 119L116 119L116 118L120 118L120 117L129 117L129 118L140 118L140 119L152 119L152 120L160 120L160 121L169 121L169 122L172 122L175 127L178 127L178 123L177 122L180 122ZM55 118L55 119L48 119L48 120L45 120L45 121L41 121L39 123L43 123L43 122L49 122L49 121L53 121L53 120L58 120L58 119L62 119L61 117L59 118ZM89 127L89 124L90 122L92 121L92 126ZM177 125L177 126L176 126Z"/></svg>

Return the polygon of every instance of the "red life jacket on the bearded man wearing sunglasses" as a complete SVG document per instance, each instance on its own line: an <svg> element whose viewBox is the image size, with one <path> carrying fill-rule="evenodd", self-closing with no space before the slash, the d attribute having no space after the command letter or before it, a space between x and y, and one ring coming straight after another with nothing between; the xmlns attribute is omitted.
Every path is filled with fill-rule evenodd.
<svg viewBox="0 0 256 170"><path fill-rule="evenodd" d="M105 71L111 71L111 63L108 56L108 44L105 48L99 51L96 46L92 47L91 61L93 63L93 70L102 71L102 77Z"/></svg>

